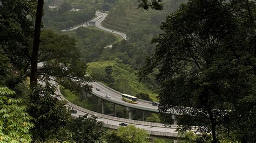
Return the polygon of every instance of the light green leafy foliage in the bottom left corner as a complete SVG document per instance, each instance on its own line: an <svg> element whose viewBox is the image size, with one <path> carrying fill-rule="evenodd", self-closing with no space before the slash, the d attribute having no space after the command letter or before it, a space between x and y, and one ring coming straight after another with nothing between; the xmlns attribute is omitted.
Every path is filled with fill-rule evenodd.
<svg viewBox="0 0 256 143"><path fill-rule="evenodd" d="M0 141L30 142L34 125L22 99L15 99L15 91L0 87Z"/></svg>

